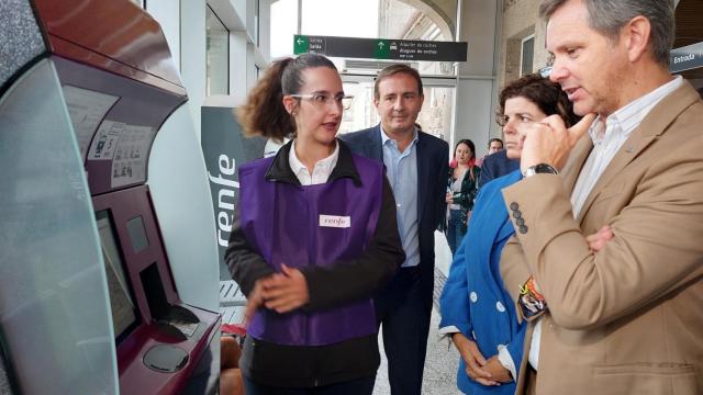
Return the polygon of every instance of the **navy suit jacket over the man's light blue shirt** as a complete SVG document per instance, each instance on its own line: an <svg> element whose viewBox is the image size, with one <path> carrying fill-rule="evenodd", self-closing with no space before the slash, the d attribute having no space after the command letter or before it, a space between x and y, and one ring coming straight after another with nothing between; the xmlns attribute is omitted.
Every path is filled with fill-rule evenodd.
<svg viewBox="0 0 703 395"><path fill-rule="evenodd" d="M338 135L353 153L383 162L380 124L364 131ZM435 136L417 132L417 219L420 241L420 286L427 308L432 308L435 271L435 229L445 216L446 174L449 145Z"/></svg>

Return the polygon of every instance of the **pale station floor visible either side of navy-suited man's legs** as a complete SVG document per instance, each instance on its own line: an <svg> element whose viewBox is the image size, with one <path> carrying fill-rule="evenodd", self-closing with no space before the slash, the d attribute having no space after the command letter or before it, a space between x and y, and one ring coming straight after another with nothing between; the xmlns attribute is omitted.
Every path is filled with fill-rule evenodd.
<svg viewBox="0 0 703 395"><path fill-rule="evenodd" d="M439 313L437 302L442 292L442 286L449 274L451 264L451 252L447 246L444 235L435 232L435 305L432 311L432 323L429 324L429 338L427 339L427 359L425 361L425 372L423 374L423 395L454 395L460 394L456 386L456 374L459 364L459 352L453 347L448 347L446 339L440 339L437 334L439 325ZM379 339L381 337L379 336ZM379 340L379 347L383 346ZM386 357L381 352L381 366L376 375L376 386L373 395L390 395L388 384L388 365Z"/></svg>

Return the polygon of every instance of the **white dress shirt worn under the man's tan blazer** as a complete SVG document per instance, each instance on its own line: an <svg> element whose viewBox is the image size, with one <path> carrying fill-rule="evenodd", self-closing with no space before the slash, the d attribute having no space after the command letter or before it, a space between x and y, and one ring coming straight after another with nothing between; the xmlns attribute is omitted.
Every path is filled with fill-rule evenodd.
<svg viewBox="0 0 703 395"><path fill-rule="evenodd" d="M573 217L577 218L583 203L588 199L591 190L603 174L607 165L615 157L625 144L634 129L636 129L641 121L647 116L649 111L657 105L663 98L677 90L683 84L683 78L678 76L673 80L662 84L654 91L634 100L624 108L611 114L605 122L601 116L595 119L593 125L589 129L589 135L593 140L593 150L585 160L579 179L573 187L571 193L571 205L573 206ZM625 149L634 149L634 147L625 147ZM547 302L547 308L548 308ZM539 339L542 337L542 318L537 319L535 330L532 334L529 345L529 364L537 370L539 363Z"/></svg>

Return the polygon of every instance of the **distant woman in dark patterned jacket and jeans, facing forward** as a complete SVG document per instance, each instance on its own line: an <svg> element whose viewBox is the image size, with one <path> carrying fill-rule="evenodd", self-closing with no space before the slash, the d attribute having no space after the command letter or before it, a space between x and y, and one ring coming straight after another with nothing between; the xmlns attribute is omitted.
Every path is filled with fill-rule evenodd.
<svg viewBox="0 0 703 395"><path fill-rule="evenodd" d="M456 252L467 223L473 210L477 182L481 169L476 166L476 146L470 139L461 139L454 148L454 159L449 163L449 177L447 178L447 218L445 235L451 255Z"/></svg>

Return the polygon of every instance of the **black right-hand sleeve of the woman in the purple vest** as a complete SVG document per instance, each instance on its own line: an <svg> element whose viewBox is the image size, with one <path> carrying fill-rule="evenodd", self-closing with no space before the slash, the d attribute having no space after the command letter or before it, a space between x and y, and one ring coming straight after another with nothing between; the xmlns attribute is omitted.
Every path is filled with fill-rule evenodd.
<svg viewBox="0 0 703 395"><path fill-rule="evenodd" d="M327 268L301 269L310 294L305 309L323 309L369 297L393 276L405 260L395 221L395 199L386 177L382 193L373 238L364 253L353 260L336 261Z"/></svg>

